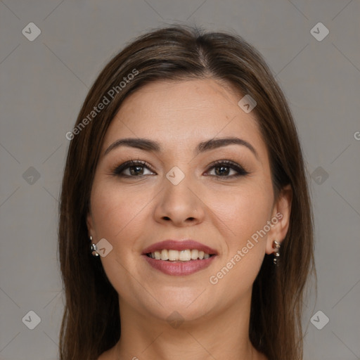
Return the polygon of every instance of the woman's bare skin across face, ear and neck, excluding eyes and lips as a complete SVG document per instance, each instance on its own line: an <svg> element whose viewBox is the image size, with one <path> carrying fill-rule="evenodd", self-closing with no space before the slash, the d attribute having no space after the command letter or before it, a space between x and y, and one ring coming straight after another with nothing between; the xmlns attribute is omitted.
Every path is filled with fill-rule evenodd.
<svg viewBox="0 0 360 360"><path fill-rule="evenodd" d="M99 360L115 359L266 359L248 337L252 283L273 241L288 231L291 189L274 199L266 145L255 113L238 106L243 95L214 79L153 82L131 94L110 124L103 141L87 217L89 236L113 246L101 257L119 294L122 335ZM201 141L236 136L257 152L232 144L195 155ZM117 139L158 141L160 153L120 146ZM128 160L146 161L139 175L120 177L113 169ZM216 160L232 160L236 169L216 176ZM165 176L179 167L177 185ZM228 165L224 165L228 166ZM124 173L130 176L129 168ZM227 176L227 177L226 177ZM281 212L281 220L216 285L216 275L252 234ZM141 257L143 249L165 239L191 238L219 255L206 269L169 276ZM172 327L177 311L184 320Z"/></svg>

